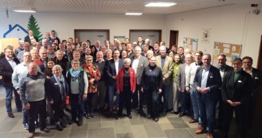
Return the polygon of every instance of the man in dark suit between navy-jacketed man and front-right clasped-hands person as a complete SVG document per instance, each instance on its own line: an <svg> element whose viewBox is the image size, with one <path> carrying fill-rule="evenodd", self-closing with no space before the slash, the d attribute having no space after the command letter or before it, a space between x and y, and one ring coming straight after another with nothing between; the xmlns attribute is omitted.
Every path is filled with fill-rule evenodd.
<svg viewBox="0 0 262 138"><path fill-rule="evenodd" d="M228 66L226 64L226 56L224 54L220 54L218 57L217 57L217 63L219 63L219 66L217 66L217 68L219 68L220 70L220 75L221 75L221 79L222 79L222 82L223 82L223 78L225 77L225 75L228 74L228 72L231 72L232 70L234 70L232 68L232 66ZM218 91L218 101L219 101L219 118L217 120L217 123L216 123L216 128L221 130L221 127L223 126L223 100L222 100L222 94L221 94L221 88L219 88L219 91ZM216 110L214 110L214 115L216 115Z"/></svg>

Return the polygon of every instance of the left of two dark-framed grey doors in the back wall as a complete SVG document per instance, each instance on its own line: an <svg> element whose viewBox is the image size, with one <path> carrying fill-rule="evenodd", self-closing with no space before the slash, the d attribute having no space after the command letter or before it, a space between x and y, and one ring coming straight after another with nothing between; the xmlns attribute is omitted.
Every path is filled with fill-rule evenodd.
<svg viewBox="0 0 262 138"><path fill-rule="evenodd" d="M109 30L74 30L74 38L79 37L81 41L91 41L91 45L94 45L95 41L99 40L100 43L103 43L105 40L109 40L110 36Z"/></svg>

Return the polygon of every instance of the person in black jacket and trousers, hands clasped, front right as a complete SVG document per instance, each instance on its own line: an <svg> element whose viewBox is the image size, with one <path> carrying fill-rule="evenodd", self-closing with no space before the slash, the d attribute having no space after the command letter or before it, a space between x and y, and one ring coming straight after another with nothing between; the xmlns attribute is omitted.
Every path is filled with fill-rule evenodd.
<svg viewBox="0 0 262 138"><path fill-rule="evenodd" d="M225 122L223 138L228 137L233 111L235 112L236 125L239 128L238 130L240 130L241 137L246 137L247 132L248 99L250 92L252 92L252 78L241 68L242 60L240 58L232 61L232 67L234 71L225 75L221 87Z"/></svg>

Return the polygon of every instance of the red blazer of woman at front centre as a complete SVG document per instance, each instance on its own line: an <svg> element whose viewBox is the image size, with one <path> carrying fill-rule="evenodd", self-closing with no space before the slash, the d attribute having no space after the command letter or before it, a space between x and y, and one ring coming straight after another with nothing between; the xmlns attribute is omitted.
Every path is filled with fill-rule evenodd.
<svg viewBox="0 0 262 138"><path fill-rule="evenodd" d="M124 68L119 69L119 73L117 75L117 92L123 92L123 72ZM136 90L136 75L134 73L134 69L129 68L130 72L130 86L131 92L133 93Z"/></svg>

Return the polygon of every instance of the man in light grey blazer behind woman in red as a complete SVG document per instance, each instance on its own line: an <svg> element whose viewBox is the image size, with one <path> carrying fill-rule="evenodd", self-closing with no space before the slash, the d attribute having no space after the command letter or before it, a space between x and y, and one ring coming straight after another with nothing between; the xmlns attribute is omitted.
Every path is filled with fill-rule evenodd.
<svg viewBox="0 0 262 138"><path fill-rule="evenodd" d="M134 48L134 56L131 58L132 68L136 74L137 86L134 94L132 95L133 107L137 108L139 105L139 113L141 115L145 115L143 112L143 102L144 102L144 93L140 92L141 90L141 77L143 70L146 66L148 66L148 59L141 55L142 49L140 46L136 46ZM139 93L139 97L138 97ZM139 100L138 100L139 98Z"/></svg>

